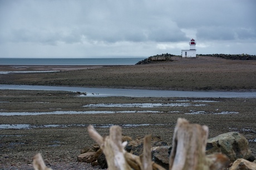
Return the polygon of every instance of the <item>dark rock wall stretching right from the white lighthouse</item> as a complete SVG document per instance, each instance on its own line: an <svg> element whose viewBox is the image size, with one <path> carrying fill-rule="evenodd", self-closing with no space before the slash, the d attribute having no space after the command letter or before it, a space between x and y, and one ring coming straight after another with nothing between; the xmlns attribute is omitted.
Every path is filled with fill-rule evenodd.
<svg viewBox="0 0 256 170"><path fill-rule="evenodd" d="M196 56L214 56L229 60L256 60L256 55L249 54L196 54Z"/></svg>

